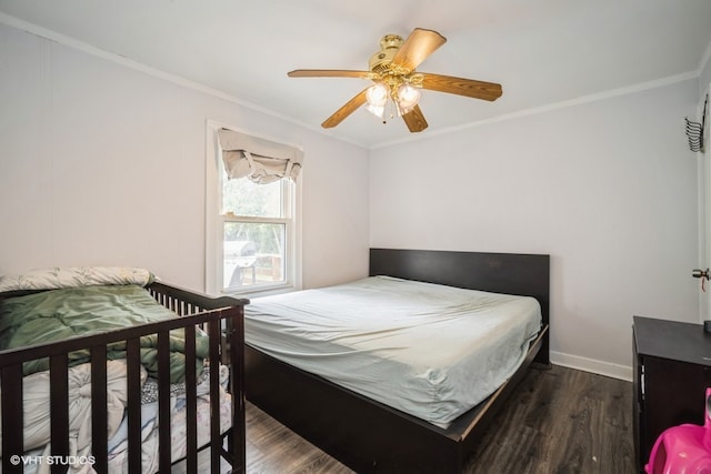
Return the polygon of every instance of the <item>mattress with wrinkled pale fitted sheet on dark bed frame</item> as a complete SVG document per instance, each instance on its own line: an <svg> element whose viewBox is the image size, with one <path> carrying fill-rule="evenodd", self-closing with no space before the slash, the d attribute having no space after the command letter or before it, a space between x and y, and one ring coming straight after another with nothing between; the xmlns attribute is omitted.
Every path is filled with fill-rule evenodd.
<svg viewBox="0 0 711 474"><path fill-rule="evenodd" d="M244 311L249 345L439 426L505 382L541 327L533 297L388 276Z"/></svg>

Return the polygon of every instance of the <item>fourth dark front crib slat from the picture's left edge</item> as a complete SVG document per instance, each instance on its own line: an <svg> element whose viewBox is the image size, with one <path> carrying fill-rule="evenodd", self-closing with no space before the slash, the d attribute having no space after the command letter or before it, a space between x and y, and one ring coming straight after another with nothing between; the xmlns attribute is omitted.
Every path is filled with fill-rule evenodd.
<svg viewBox="0 0 711 474"><path fill-rule="evenodd" d="M141 353L140 339L126 341L129 472L141 472Z"/></svg>

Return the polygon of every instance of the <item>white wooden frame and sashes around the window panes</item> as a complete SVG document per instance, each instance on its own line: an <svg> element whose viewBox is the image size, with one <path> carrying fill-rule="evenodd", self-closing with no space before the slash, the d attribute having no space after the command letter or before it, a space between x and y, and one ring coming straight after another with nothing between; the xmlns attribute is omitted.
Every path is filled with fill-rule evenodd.
<svg viewBox="0 0 711 474"><path fill-rule="evenodd" d="M301 181L303 172L299 174L297 182L287 183L293 192L287 194L283 219L239 218L239 222L274 222L286 224L284 245L284 281L273 284L260 284L244 286L240 290L223 289L223 240L224 222L234 221L224 219L220 213L222 203L222 175L224 167L220 155L218 130L228 129L250 134L252 137L270 140L289 147L301 148L292 143L284 143L271 137L260 135L226 123L213 120L207 121L206 127L206 293L208 294L234 294L239 296L263 296L301 290Z"/></svg>

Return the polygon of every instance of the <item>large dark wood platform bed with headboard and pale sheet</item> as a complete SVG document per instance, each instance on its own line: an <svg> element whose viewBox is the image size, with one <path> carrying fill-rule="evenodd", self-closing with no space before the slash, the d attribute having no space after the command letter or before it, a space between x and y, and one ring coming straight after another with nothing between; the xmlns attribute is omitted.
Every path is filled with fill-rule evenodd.
<svg viewBox="0 0 711 474"><path fill-rule="evenodd" d="M327 296L326 303L322 299L311 300L311 296L303 296L306 300L297 301L300 305L293 306L291 300L294 297L299 300L298 295L284 296L286 300L281 296L252 300L252 304L247 307L246 316L247 397L357 472L461 472L467 457L475 450L478 440L495 413L505 406L507 399L515 390L531 363L535 362L544 366L550 364L549 273L549 255L371 249L370 278L356 282L356 289L349 283L346 292L342 285L327 290L327 293L330 291L334 293ZM373 283L373 279L378 280ZM403 369L404 366L398 369L397 364L385 367L383 362L377 362L371 357L372 346L369 344L379 340L384 347L378 350L379 355L384 351L385 360L401 362L399 360L401 357L395 355L397 351L388 352L392 347L400 347L401 340L391 336L391 327L383 333L382 327L378 326L379 317L375 317L377 323L372 323L375 326L368 326L371 324L369 322L371 316L360 311L363 314L363 324L369 327L371 335L375 334L367 337L364 343L361 335L344 335L340 327L334 334L331 329L324 330L319 326L318 330L312 331L309 327L294 327L286 320L276 319L283 316L279 314L283 310L283 312L303 312L307 314L304 317L307 321L318 320L321 316L313 316L313 310L316 306L329 305L328 297L331 297L334 307L338 307L340 299L346 309L353 304L352 297L357 297L354 294L361 293L363 286L368 286L369 291L373 285L380 289L382 280L387 285L400 284L401 281L414 284L414 293L404 293L403 300L398 302L400 305L404 305L405 300L419 297L418 285L429 284L448 286L441 290L444 291L443 294L435 296L440 300L454 301L459 292L469 290L474 290L477 293L499 293L507 295L504 299L510 299L512 295L524 296L523 300L528 300L527 306L530 305L530 300L533 300L539 309L538 329L534 333L524 331L524 350L517 356L515 364L510 366L508 372L504 371L491 377L484 375L491 379L488 382L497 377L503 377L503 381L484 390L485 394L473 394L471 400L481 399L477 400L474 405L458 406L455 410L445 406L442 410L433 400L425 399L424 402L419 403L419 411L412 411L412 406L408 406L412 405L411 401L407 400L409 392L413 394L411 397L415 399L420 397L420 392L414 392L412 383L405 385L405 389L398 389L401 385L391 384L388 380L395 379L398 372L404 373L407 369ZM395 306L388 306L390 302L379 300L379 296L368 297L375 310L388 307L387 311L398 311L392 310ZM343 313L348 313L348 310L343 310ZM525 311L520 313L523 314ZM359 313L354 312L346 319L357 317L357 314ZM445 314L443 319L450 323L453 321L455 330L465 333L469 331L465 329L468 326L457 325L464 324L459 316L459 314ZM421 331L424 331L423 334L431 334L432 340L442 333L439 329L441 321L422 321L417 326L420 330L425 327ZM269 335L269 331L264 332L264 327L261 327L270 324L280 327L276 333L281 331L282 337L274 336L276 333ZM283 339L283 334L304 333L313 339L313 332L318 334L317 339L331 344L329 350L331 355L336 354L336 359L346 360L342 361L344 365L340 365L342 371L340 374L336 370L333 373L328 373L328 369L322 367L327 365L328 359L333 357L324 356L322 352L313 355L308 345L312 341L299 345L300 343L294 342L293 339L287 339L286 342L281 342L281 349L270 345L277 343L274 339ZM350 344L356 339L359 339L360 345ZM453 339L450 337L448 341L444 345L448 352L451 352L450 343ZM334 345L334 342L339 345ZM343 350L343 346L348 346L349 350ZM419 353L418 346L422 349ZM420 342L414 344L415 350L410 357L418 362L434 359L430 357L430 354L439 351L433 347L437 346L432 345L432 341L420 339ZM343 353L347 355L342 356ZM365 374L367 367L373 366L382 372L380 375L368 372L368 377L380 376L375 379L375 389L364 387L364 382L360 384L354 382L358 379L350 379L352 384L349 385L349 376L352 373L362 375ZM435 369L425 371L424 379L449 379L453 372L457 372L455 365L447 366L445 371L438 372ZM429 381L425 382L429 383ZM429 383L428 386L431 385ZM458 394L454 405L462 405L463 402L459 403L460 395L465 397L464 392L475 392L473 386L470 383L462 394ZM448 387L448 393L453 391L451 386ZM394 396L390 396L392 394ZM399 401L401 401L400 404ZM444 418L440 417L441 412L447 413Z"/></svg>

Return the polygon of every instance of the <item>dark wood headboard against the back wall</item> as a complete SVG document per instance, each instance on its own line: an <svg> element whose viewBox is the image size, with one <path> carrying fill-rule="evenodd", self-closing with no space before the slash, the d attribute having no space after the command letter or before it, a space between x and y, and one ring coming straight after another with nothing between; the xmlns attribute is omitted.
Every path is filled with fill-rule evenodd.
<svg viewBox="0 0 711 474"><path fill-rule="evenodd" d="M550 255L370 249L370 276L375 275L533 296L549 324Z"/></svg>

